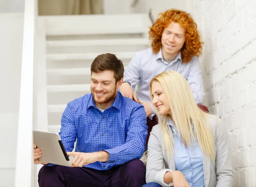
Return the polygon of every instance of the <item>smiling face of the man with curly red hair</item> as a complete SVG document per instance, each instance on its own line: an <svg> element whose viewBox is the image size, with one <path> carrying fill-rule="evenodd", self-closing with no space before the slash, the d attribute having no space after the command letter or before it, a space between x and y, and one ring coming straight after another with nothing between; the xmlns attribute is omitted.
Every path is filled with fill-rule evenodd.
<svg viewBox="0 0 256 187"><path fill-rule="evenodd" d="M178 55L186 41L186 32L179 23L172 22L163 30L161 38L162 53L165 60L173 60Z"/></svg>

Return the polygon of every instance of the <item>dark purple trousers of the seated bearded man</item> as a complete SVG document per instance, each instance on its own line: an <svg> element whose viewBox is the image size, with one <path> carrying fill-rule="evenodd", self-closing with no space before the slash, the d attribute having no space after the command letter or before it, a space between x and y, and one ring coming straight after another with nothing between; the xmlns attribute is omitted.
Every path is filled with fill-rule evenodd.
<svg viewBox="0 0 256 187"><path fill-rule="evenodd" d="M146 168L139 159L100 171L86 167L44 166L38 174L40 187L142 187Z"/></svg>

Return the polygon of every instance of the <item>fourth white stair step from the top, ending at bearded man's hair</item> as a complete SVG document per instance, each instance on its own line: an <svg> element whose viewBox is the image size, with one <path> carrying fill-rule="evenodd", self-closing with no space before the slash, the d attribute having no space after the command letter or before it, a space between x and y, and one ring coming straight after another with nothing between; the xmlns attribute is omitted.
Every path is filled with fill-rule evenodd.
<svg viewBox="0 0 256 187"><path fill-rule="evenodd" d="M90 75L90 68L47 69L50 75Z"/></svg>

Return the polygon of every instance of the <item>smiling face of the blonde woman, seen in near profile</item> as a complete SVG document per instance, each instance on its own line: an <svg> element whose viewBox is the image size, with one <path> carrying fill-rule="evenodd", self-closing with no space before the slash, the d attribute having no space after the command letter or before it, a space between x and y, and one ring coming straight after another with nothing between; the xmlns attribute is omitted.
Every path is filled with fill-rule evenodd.
<svg viewBox="0 0 256 187"><path fill-rule="evenodd" d="M165 92L163 91L163 87L158 81L154 81L151 86L152 90L152 103L157 107L159 115L171 115L171 109L169 106L168 99L166 97Z"/></svg>

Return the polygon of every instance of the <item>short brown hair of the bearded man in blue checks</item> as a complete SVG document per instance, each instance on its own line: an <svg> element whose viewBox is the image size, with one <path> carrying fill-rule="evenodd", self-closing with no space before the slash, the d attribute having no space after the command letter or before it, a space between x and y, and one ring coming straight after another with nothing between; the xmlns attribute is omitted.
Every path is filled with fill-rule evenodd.
<svg viewBox="0 0 256 187"><path fill-rule="evenodd" d="M124 65L122 60L116 58L116 55L111 53L101 54L97 56L91 65L91 75L93 72L98 73L104 70L111 70L114 72L116 83L124 77Z"/></svg>

